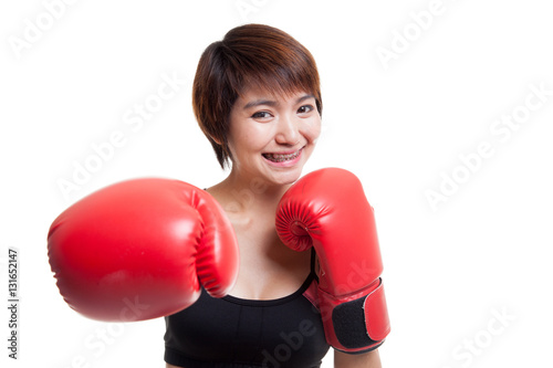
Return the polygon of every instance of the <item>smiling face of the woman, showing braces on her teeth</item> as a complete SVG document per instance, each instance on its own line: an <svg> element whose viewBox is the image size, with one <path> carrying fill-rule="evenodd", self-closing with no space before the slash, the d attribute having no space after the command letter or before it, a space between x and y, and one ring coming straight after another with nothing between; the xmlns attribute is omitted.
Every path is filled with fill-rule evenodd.
<svg viewBox="0 0 553 368"><path fill-rule="evenodd" d="M313 95L249 88L230 113L232 170L251 179L292 183L300 178L320 134L321 116Z"/></svg>

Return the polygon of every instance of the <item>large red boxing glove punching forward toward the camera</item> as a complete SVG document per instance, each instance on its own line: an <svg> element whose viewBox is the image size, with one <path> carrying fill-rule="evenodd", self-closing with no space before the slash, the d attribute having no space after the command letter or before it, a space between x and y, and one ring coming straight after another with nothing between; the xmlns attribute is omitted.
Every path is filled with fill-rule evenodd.
<svg viewBox="0 0 553 368"><path fill-rule="evenodd" d="M115 183L74 203L52 223L48 255L65 302L106 322L177 313L200 284L225 296L238 275L238 242L220 206L169 179Z"/></svg>

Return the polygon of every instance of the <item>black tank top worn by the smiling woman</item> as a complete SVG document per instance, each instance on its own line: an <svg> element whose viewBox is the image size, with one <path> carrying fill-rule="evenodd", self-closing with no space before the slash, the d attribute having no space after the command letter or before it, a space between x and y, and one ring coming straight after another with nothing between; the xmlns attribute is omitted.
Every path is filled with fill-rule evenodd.
<svg viewBox="0 0 553 368"><path fill-rule="evenodd" d="M293 294L270 301L213 298L165 317L165 361L185 368L311 368L328 351L312 271Z"/></svg>

